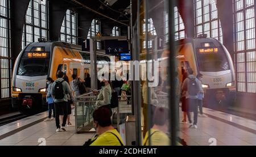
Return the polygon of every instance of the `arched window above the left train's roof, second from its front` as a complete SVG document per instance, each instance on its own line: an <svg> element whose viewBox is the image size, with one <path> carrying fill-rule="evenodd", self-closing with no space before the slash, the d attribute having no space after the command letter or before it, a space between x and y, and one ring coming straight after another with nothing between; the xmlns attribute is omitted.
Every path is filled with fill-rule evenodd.
<svg viewBox="0 0 256 157"><path fill-rule="evenodd" d="M77 13L68 9L64 16L61 29L60 41L77 44Z"/></svg>

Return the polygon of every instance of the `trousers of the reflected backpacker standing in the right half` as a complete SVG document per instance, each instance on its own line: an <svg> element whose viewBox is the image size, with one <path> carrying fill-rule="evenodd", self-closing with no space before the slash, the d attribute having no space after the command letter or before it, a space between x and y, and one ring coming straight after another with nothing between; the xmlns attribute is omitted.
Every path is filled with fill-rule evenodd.
<svg viewBox="0 0 256 157"><path fill-rule="evenodd" d="M197 99L186 99L186 100L187 100L188 121L189 121L189 123L192 123L190 112L193 112L194 113L193 125L196 125L197 124L197 114L198 114Z"/></svg>

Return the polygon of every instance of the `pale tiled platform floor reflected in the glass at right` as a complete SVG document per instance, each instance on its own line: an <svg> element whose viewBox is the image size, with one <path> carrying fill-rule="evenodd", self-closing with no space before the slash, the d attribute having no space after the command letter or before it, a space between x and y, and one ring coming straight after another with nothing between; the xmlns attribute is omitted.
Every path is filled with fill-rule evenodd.
<svg viewBox="0 0 256 157"><path fill-rule="evenodd" d="M214 138L217 146L256 146L255 121L207 108L204 112L209 117L198 117L197 129L188 128L189 124L180 124L180 137L188 145L209 146L212 143L210 138Z"/></svg>

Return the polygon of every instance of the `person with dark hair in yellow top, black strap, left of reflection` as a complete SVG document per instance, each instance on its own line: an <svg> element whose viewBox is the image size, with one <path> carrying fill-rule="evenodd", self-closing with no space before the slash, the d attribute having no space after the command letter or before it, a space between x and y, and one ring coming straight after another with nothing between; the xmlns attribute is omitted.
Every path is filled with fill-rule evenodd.
<svg viewBox="0 0 256 157"><path fill-rule="evenodd" d="M97 136L91 139L90 146L123 146L121 135L111 125L108 108L98 108L93 112L94 128Z"/></svg>

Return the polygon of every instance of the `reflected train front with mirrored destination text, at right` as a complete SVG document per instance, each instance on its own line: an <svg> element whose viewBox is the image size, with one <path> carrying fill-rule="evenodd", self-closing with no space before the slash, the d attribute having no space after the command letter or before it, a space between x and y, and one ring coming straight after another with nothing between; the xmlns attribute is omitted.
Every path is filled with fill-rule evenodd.
<svg viewBox="0 0 256 157"><path fill-rule="evenodd" d="M195 39L199 73L208 105L227 107L236 99L235 75L228 50L216 39Z"/></svg>

